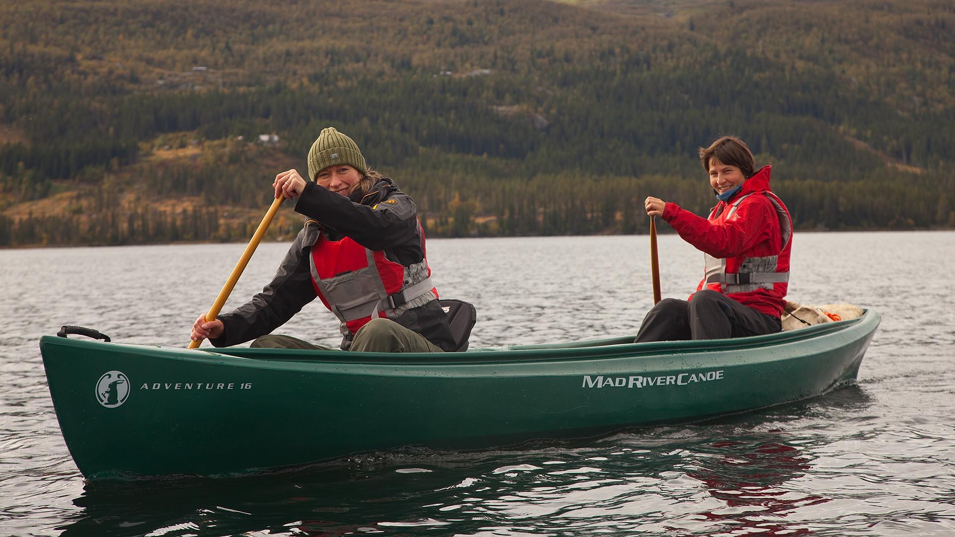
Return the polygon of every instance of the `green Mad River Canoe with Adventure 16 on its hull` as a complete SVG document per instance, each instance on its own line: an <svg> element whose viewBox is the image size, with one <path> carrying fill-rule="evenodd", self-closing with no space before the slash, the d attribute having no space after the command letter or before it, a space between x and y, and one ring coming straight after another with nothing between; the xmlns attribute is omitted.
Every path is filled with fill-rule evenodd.
<svg viewBox="0 0 955 537"><path fill-rule="evenodd" d="M455 354L187 350L44 336L56 417L89 480L237 476L406 445L478 449L703 419L855 380L880 316L793 332L627 335Z"/></svg>

